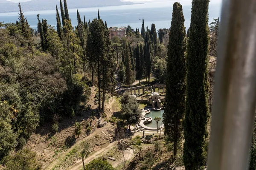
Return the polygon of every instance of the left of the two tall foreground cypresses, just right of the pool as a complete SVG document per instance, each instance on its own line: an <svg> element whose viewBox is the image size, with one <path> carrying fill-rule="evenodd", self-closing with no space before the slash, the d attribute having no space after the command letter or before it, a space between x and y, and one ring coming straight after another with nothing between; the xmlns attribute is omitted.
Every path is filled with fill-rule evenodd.
<svg viewBox="0 0 256 170"><path fill-rule="evenodd" d="M180 3L173 4L171 31L169 34L166 98L163 123L166 135L174 143L174 156L181 141L182 122L186 95L186 30Z"/></svg>

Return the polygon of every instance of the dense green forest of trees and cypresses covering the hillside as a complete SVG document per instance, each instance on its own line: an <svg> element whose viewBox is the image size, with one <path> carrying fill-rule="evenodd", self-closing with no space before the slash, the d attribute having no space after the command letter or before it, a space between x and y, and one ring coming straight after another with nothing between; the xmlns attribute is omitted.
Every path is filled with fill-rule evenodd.
<svg viewBox="0 0 256 170"><path fill-rule="evenodd" d="M37 128L50 122L54 134L61 119L81 115L90 108L92 87L97 87L96 105L105 117L106 102L117 95L115 88L132 87L137 80L145 86L166 84L164 139L173 144L172 158L187 170L204 167L214 87L208 73L216 65L220 23L214 19L208 25L209 0L192 1L190 28L184 27L182 6L174 3L170 29L156 30L154 23L145 28L143 19L141 29L127 26L126 37L112 40L99 10L88 22L77 11L78 26L73 27L66 0L60 5L56 26L38 14L38 28L33 30L20 4L16 23L0 23L0 164L6 170L41 169L36 154L24 147ZM140 120L139 103L123 94L120 104L122 126L130 129ZM116 118L111 116L109 122L116 123ZM81 124L75 126L79 138ZM141 153L141 143L135 143ZM255 150L254 133L253 160ZM146 169L151 169L152 155L145 153ZM86 156L82 150L83 164ZM250 162L250 170L255 164ZM96 166L113 169L102 159L84 169Z"/></svg>

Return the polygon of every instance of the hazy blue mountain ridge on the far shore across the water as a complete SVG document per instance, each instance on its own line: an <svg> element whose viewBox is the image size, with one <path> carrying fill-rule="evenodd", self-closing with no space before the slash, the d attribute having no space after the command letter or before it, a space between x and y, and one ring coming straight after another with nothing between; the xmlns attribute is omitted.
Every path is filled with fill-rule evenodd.
<svg viewBox="0 0 256 170"><path fill-rule="evenodd" d="M22 11L38 11L55 9L59 7L59 0L31 0L22 2ZM100 6L120 6L131 5L131 2L121 2L121 0L67 0L68 8L86 8ZM0 13L2 12L17 12L19 11L18 3L13 3L7 0L0 0Z"/></svg>

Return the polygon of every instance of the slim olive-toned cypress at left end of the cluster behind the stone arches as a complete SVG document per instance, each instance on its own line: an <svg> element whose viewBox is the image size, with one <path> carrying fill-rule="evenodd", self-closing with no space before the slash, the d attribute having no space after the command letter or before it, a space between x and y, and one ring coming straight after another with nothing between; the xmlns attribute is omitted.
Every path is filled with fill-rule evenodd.
<svg viewBox="0 0 256 170"><path fill-rule="evenodd" d="M133 83L133 71L132 71L132 65L131 65L131 54L130 54L130 50L127 44L125 44L125 77L126 77L126 85L128 85L129 87L132 85Z"/></svg>

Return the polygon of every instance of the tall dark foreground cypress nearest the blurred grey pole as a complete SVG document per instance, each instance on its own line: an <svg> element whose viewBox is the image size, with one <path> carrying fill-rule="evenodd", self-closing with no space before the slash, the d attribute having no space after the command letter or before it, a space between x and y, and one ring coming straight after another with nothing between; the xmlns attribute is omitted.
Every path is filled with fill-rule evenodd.
<svg viewBox="0 0 256 170"><path fill-rule="evenodd" d="M183 163L198 170L206 161L208 109L209 0L193 0L187 49Z"/></svg>

